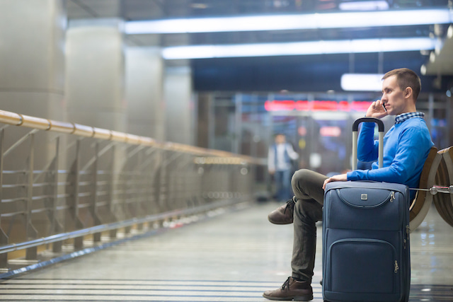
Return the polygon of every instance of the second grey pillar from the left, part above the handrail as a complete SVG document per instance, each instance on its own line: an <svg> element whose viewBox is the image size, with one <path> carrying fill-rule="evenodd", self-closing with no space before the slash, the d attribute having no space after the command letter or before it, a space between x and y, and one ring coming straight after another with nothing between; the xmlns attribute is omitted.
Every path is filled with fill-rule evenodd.
<svg viewBox="0 0 453 302"><path fill-rule="evenodd" d="M68 120L127 132L121 21L71 23L66 42Z"/></svg>

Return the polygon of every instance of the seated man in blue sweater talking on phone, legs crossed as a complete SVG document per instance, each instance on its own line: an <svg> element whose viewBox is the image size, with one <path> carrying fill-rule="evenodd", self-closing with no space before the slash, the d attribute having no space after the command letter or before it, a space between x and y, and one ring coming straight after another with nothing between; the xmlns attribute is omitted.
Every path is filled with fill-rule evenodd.
<svg viewBox="0 0 453 302"><path fill-rule="evenodd" d="M384 166L373 163L372 170L355 170L327 178L310 170L298 170L291 181L295 196L292 201L269 214L269 220L280 224L294 220L292 276L275 291L265 291L270 300L310 301L313 299L313 277L316 252L316 221L322 219L323 190L328 182L374 180L397 182L418 187L423 164L432 141L423 113L415 102L420 93L420 78L410 69L394 69L382 78L382 98L369 106L367 117L396 115L395 125L384 137ZM360 161L377 160L374 123L363 123L358 141ZM294 214L293 214L294 213Z"/></svg>

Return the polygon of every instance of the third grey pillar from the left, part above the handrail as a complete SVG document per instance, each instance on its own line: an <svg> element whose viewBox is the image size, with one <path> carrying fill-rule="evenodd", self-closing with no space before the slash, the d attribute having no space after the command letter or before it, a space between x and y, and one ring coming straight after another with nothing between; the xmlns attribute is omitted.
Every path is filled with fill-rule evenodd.
<svg viewBox="0 0 453 302"><path fill-rule="evenodd" d="M128 132L164 140L164 59L159 47L126 51Z"/></svg>

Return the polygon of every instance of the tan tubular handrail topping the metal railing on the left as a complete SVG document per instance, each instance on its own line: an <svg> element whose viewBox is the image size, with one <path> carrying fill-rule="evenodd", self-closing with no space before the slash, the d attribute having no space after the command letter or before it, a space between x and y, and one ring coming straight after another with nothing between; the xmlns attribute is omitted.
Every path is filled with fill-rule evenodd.
<svg viewBox="0 0 453 302"><path fill-rule="evenodd" d="M230 153L227 151L204 149L197 146L190 146L173 142L161 142L156 141L151 137L142 137L134 134L128 134L125 132L117 132L114 130L91 127L71 122L60 122L55 120L49 120L42 117L31 117L29 115L21 115L15 112L9 112L5 110L0 110L0 122L4 124L11 124L14 126L29 127L51 132L74 134L81 137L93 137L95 139L118 141L126 144L159 146L162 149L172 151L183 151L186 153L193 153L199 155L241 158L241 160L249 163L255 163L256 161L251 156L244 156L241 154Z"/></svg>

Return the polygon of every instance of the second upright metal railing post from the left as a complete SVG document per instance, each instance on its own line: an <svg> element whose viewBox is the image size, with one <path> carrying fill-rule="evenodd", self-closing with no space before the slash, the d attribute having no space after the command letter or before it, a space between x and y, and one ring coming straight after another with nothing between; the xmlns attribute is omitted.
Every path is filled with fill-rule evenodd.
<svg viewBox="0 0 453 302"><path fill-rule="evenodd" d="M27 186L27 203L25 210L25 230L27 232L27 240L38 238L38 231L32 223L33 209L33 165L35 153L35 134L30 134L30 154L28 157L28 186ZM25 252L25 260L37 260L38 247L28 248Z"/></svg>

